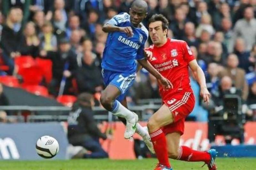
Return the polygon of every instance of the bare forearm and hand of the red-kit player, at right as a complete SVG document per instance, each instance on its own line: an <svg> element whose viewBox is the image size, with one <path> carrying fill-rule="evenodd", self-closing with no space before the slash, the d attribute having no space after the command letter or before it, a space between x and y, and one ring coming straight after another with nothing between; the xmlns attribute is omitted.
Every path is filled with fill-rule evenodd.
<svg viewBox="0 0 256 170"><path fill-rule="evenodd" d="M205 77L204 77L204 71L201 69L201 67L197 64L196 59L192 60L189 62L189 67L191 68L191 70L193 72L196 72L197 75L197 82L200 85L200 95L201 97L203 97L204 102L209 103L209 99L210 99L210 93L207 90L206 87L206 82L205 82Z"/></svg>

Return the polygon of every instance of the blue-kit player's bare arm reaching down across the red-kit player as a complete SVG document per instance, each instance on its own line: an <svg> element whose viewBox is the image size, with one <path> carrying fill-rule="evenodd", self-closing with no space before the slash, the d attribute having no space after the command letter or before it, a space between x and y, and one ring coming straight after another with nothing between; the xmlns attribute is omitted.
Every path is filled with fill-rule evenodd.
<svg viewBox="0 0 256 170"><path fill-rule="evenodd" d="M172 83L164 78L149 62L146 58L142 59L142 60L137 60L138 63L140 63L140 65L142 67L144 67L146 70L148 70L148 72L150 72L153 76L156 77L157 81L162 84L166 89L169 88L173 88Z"/></svg>

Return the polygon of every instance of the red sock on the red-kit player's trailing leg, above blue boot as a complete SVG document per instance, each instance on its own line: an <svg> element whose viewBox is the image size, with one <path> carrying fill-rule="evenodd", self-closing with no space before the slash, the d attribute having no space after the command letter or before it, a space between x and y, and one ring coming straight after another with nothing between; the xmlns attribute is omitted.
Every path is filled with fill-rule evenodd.
<svg viewBox="0 0 256 170"><path fill-rule="evenodd" d="M207 152L195 151L187 146L180 146L177 159L188 162L204 161L205 163L209 163L211 156Z"/></svg>

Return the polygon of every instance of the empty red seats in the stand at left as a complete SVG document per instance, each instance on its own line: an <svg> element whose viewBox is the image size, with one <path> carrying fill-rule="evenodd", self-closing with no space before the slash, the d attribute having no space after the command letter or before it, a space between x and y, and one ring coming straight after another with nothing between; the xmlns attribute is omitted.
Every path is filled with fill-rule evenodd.
<svg viewBox="0 0 256 170"><path fill-rule="evenodd" d="M51 60L42 58L34 59L31 56L20 56L14 59L14 63L17 74L22 77L22 83L20 83L15 76L0 76L0 83L10 87L20 87L33 94L49 97L48 89L40 84L43 79L46 84L49 84L52 80ZM0 69L2 67L7 67L6 69L8 70L8 66L4 66L3 61L0 59ZM72 84L75 85L76 89L75 80L73 80ZM72 95L62 95L57 97L56 100L64 106L72 107L73 103L76 101L76 97Z"/></svg>

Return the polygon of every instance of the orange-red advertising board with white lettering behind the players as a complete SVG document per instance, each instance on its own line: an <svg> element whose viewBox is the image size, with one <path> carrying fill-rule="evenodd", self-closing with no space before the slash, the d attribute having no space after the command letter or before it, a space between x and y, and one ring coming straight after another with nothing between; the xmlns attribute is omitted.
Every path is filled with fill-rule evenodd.
<svg viewBox="0 0 256 170"><path fill-rule="evenodd" d="M141 124L146 126L146 122L141 122ZM124 125L121 122L118 122L115 123L113 127L113 138L111 141L102 141L103 148L108 151L111 159L135 159L133 142L124 139ZM247 122L245 124L246 145L256 145L256 131L254 129L256 129L256 122ZM186 145L195 150L205 151L209 149L207 130L207 123L185 122L185 133L181 137L180 144ZM135 134L134 137L140 138L137 134ZM219 145L225 144L222 136L217 136L215 141ZM233 144L238 143L239 141L237 140L233 141Z"/></svg>

